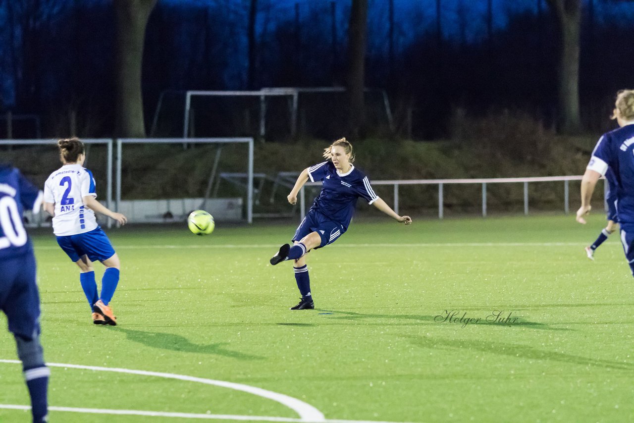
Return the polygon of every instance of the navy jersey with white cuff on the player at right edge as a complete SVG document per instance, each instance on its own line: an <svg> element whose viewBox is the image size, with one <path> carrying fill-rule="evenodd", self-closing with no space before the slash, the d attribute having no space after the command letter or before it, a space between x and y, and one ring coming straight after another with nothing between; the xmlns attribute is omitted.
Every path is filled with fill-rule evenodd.
<svg viewBox="0 0 634 423"><path fill-rule="evenodd" d="M605 133L592 152L588 169L606 175L611 191L616 189L619 221L634 223L634 125ZM607 176L608 169L612 176Z"/></svg>

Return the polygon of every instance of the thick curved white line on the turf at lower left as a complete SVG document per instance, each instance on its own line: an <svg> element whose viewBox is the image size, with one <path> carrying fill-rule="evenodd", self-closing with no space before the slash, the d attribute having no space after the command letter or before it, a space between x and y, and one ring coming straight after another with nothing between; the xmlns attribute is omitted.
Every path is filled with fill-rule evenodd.
<svg viewBox="0 0 634 423"><path fill-rule="evenodd" d="M22 363L19 360L0 360L0 363ZM98 372L117 372L117 373L127 373L133 375L143 375L143 376L154 376L154 377L165 377L167 379L178 379L181 381L188 382L198 382L207 385L214 385L220 387L226 387L229 389L235 389L236 391L243 391L249 394L254 394L257 396L261 396L262 398L268 398L269 400L276 401L281 405L285 405L290 408L297 414L299 414L301 421L314 421L314 422L323 422L325 421L325 417L320 410L314 408L312 405L305 403L304 401L297 400L297 398L293 398L292 396L288 396L285 394L278 394L273 391L267 391L266 389L262 389L259 387L249 386L238 384L234 382L225 382L225 381L215 381L213 379L204 379L202 377L193 377L187 375L179 375L173 373L160 373L160 372L148 372L146 370L131 370L129 368L116 368L116 367L97 367L97 366L83 366L77 364L64 364L64 363L46 363L49 367L64 367L64 368L81 368L85 370L95 370Z"/></svg>

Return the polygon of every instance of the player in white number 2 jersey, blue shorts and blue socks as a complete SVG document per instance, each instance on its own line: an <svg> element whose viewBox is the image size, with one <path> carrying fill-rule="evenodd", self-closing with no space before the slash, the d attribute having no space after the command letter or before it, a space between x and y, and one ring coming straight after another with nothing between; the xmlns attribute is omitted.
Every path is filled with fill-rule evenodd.
<svg viewBox="0 0 634 423"><path fill-rule="evenodd" d="M105 214L121 225L126 216L110 211L96 200L91 171L84 168L84 143L77 138L59 140L63 166L46 179L44 209L53 216L53 233L68 257L79 266L79 281L90 305L95 325L116 325L117 318L108 304L119 283L119 256L97 224L94 212ZM101 261L106 270L101 278L101 295L97 296L93 261Z"/></svg>

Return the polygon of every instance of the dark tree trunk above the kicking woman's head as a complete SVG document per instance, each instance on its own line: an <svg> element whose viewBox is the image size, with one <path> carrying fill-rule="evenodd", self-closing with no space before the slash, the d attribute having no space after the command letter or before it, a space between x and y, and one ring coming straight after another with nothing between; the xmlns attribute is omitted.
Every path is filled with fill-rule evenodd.
<svg viewBox="0 0 634 423"><path fill-rule="evenodd" d="M365 127L365 51L368 25L368 0L353 0L348 28L347 92L351 136L358 136Z"/></svg>

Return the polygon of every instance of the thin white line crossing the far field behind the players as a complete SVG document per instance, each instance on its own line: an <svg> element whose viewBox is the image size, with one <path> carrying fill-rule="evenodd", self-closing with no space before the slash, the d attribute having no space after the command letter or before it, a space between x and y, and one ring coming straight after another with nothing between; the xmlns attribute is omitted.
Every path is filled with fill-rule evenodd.
<svg viewBox="0 0 634 423"><path fill-rule="evenodd" d="M587 244L587 243L586 243ZM328 248L349 247L579 247L583 242L418 242L412 244L332 244ZM605 244L617 244L606 242ZM217 244L217 245L117 245L117 249L214 249L214 248L279 248L280 244ZM57 250L57 245L36 247L36 250Z"/></svg>

